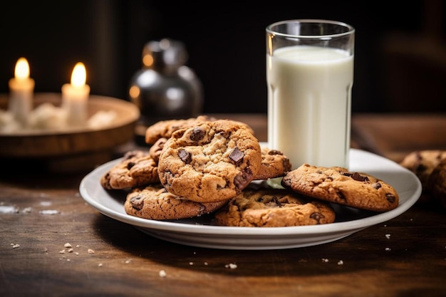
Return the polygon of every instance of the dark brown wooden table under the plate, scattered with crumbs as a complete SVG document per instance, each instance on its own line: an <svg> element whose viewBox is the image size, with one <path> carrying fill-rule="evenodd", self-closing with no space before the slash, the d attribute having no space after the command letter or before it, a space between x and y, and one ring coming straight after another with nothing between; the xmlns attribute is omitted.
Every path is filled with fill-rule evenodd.
<svg viewBox="0 0 446 297"><path fill-rule="evenodd" d="M229 117L266 140L266 115ZM446 150L446 116L354 115L352 135L353 147L398 162L413 149ZM100 214L79 194L88 172L11 167L3 165L0 179L0 296L446 294L446 212L429 197L329 244L206 249L155 239Z"/></svg>

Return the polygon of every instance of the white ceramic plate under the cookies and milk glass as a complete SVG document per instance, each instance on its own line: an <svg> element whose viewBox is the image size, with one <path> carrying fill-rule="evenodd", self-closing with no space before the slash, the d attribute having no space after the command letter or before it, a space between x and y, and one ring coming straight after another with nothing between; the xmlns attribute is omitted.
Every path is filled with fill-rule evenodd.
<svg viewBox="0 0 446 297"><path fill-rule="evenodd" d="M141 219L125 213L125 192L106 191L100 177L119 160L110 161L87 174L80 185L81 196L102 214L120 222L132 224L145 234L177 244L213 249L291 249L314 246L342 239L369 226L398 217L418 200L419 179L397 163L363 150L351 149L351 171L367 172L383 179L397 190L400 204L390 212L367 212L333 204L336 222L313 226L288 227L229 227L216 226L212 216L172 221Z"/></svg>

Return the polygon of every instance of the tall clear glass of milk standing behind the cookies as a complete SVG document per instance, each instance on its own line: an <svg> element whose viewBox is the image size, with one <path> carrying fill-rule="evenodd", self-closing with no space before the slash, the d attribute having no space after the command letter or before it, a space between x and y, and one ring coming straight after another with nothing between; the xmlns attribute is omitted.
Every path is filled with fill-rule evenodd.
<svg viewBox="0 0 446 297"><path fill-rule="evenodd" d="M266 27L268 145L307 163L348 168L355 29L299 19Z"/></svg>

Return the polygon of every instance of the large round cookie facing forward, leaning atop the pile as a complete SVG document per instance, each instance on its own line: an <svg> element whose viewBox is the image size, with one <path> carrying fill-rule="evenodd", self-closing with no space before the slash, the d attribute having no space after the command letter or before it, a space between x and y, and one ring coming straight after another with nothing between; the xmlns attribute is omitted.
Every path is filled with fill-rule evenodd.
<svg viewBox="0 0 446 297"><path fill-rule="evenodd" d="M158 161L160 182L195 202L230 199L259 172L261 148L250 130L232 120L215 120L175 131Z"/></svg>

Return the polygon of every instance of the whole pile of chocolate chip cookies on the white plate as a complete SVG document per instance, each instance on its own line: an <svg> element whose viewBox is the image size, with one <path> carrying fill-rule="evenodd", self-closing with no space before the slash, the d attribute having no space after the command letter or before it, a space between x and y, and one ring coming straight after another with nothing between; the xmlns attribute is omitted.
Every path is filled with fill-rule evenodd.
<svg viewBox="0 0 446 297"><path fill-rule="evenodd" d="M125 154L100 180L125 190L125 212L145 219L212 214L222 226L302 226L336 219L331 202L385 212L398 194L385 182L345 168L302 165L261 147L245 123L200 115L147 128L150 150ZM262 181L283 177L282 189Z"/></svg>

